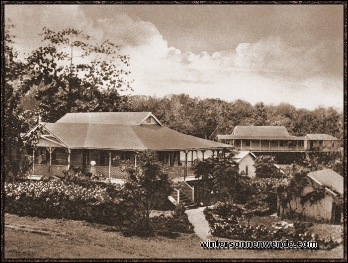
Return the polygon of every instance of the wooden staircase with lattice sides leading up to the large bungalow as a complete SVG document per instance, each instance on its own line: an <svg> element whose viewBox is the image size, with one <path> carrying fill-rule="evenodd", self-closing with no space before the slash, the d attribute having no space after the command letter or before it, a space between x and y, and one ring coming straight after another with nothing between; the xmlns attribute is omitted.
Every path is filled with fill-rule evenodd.
<svg viewBox="0 0 348 263"><path fill-rule="evenodd" d="M178 188L178 189L177 189ZM198 205L194 202L194 187L191 187L185 181L178 181L178 187L174 189L168 199L178 205L182 203L186 209L197 208Z"/></svg>

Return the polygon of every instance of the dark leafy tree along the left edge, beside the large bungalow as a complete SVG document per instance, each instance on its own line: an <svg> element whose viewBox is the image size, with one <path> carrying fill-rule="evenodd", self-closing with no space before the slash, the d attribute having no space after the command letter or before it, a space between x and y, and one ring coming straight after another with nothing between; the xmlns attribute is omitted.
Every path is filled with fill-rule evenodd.
<svg viewBox="0 0 348 263"><path fill-rule="evenodd" d="M13 44L15 36L10 33L14 26L7 21L5 25L4 37L4 173L5 178L10 179L13 176L21 175L25 172L27 166L24 166L25 147L30 141L35 139L35 133L32 137L22 137L21 134L29 129L30 114L23 111L21 99L25 96L28 87L25 85L25 75L27 74L25 64L18 59Z"/></svg>

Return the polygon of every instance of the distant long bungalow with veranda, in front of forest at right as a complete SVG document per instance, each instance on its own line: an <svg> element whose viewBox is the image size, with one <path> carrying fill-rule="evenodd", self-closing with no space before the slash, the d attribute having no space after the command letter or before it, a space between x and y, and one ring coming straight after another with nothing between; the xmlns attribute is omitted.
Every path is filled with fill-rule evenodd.
<svg viewBox="0 0 348 263"><path fill-rule="evenodd" d="M338 151L339 140L328 134L292 136L284 126L236 126L218 142L248 151Z"/></svg>

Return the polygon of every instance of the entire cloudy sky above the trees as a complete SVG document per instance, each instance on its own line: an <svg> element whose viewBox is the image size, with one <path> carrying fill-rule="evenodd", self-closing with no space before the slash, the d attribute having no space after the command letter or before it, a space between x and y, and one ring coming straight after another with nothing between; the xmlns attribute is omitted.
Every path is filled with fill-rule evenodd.
<svg viewBox="0 0 348 263"><path fill-rule="evenodd" d="M5 4L16 48L43 27L83 30L130 56L133 91L344 107L343 4Z"/></svg>

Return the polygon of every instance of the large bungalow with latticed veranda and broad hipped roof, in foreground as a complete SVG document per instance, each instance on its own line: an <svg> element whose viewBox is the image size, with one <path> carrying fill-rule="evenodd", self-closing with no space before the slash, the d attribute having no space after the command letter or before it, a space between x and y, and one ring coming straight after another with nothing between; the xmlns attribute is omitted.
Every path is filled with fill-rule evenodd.
<svg viewBox="0 0 348 263"><path fill-rule="evenodd" d="M32 152L35 176L62 175L81 167L95 175L125 179L121 160L136 166L139 152L155 151L171 177L185 179L193 176L188 163L197 152L204 158L207 150L214 154L233 148L164 127L151 112L67 113L55 123L39 126L42 132Z"/></svg>

